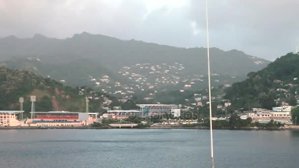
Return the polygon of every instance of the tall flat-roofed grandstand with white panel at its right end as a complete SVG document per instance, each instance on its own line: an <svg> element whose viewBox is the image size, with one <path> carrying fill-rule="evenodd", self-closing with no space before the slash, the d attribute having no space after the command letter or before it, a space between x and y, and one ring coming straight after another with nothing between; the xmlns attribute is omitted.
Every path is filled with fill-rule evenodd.
<svg viewBox="0 0 299 168"><path fill-rule="evenodd" d="M165 113L171 113L175 117L180 116L178 105L137 104L136 106L140 107L140 111L147 116L163 115Z"/></svg>

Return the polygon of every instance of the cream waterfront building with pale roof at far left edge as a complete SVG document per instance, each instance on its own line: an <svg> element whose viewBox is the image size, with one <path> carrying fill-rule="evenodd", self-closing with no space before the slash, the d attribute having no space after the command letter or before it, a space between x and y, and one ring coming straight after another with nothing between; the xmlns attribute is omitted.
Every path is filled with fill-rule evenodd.
<svg viewBox="0 0 299 168"><path fill-rule="evenodd" d="M24 122L18 120L17 114L24 111L0 111L0 127L24 126Z"/></svg>

